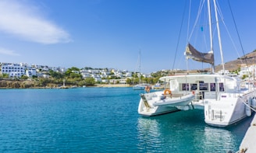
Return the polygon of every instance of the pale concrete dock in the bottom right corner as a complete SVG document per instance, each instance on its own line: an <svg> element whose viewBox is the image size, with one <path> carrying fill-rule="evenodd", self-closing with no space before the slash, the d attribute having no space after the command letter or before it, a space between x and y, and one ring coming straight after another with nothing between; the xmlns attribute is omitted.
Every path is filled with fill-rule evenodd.
<svg viewBox="0 0 256 153"><path fill-rule="evenodd" d="M256 116L251 121L251 126L248 128L242 143L239 148L240 153L255 153L256 152Z"/></svg>

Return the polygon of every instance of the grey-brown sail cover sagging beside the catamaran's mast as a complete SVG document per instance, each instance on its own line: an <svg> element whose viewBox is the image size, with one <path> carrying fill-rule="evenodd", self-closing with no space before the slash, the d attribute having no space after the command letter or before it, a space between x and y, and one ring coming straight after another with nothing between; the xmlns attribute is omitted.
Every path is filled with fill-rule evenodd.
<svg viewBox="0 0 256 153"><path fill-rule="evenodd" d="M197 51L190 43L187 44L185 55L188 58L192 58L194 61L214 64L213 53L201 53Z"/></svg>

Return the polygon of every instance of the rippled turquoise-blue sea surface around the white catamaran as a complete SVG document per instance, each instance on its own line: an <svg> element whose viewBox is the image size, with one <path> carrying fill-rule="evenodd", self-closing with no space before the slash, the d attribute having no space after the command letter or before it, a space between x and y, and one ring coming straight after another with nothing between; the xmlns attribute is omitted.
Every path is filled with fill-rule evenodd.
<svg viewBox="0 0 256 153"><path fill-rule="evenodd" d="M132 88L1 89L0 152L238 151L252 117L227 128L203 110L137 113Z"/></svg>

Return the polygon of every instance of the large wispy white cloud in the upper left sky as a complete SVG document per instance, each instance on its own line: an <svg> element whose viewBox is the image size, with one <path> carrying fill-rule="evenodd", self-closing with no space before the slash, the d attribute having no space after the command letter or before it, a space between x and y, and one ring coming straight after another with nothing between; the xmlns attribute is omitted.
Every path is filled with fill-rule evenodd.
<svg viewBox="0 0 256 153"><path fill-rule="evenodd" d="M66 43L69 33L59 26L43 19L40 9L23 1L0 1L0 30L37 43Z"/></svg>

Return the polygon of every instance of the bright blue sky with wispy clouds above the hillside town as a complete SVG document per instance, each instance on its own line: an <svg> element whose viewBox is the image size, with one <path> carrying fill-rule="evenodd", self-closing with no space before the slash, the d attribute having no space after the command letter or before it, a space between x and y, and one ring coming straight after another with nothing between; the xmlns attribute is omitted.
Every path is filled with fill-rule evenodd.
<svg viewBox="0 0 256 153"><path fill-rule="evenodd" d="M256 49L256 1L229 1L247 54ZM137 71L140 50L142 72L186 69L183 52L187 44L189 2L1 0L0 62ZM197 15L200 1L193 2L191 20ZM232 25L229 33L237 47L237 51L229 47L232 43L228 41L227 34L223 35L224 61L230 61L243 55L243 52L233 26L228 1L219 1L219 5L226 26L229 28ZM181 26L185 6L187 11ZM190 22L192 26L194 21ZM219 50L215 50L215 63L221 63ZM201 63L189 61L188 64L190 68L193 68L191 65L202 68ZM203 67L208 68L209 65L204 64Z"/></svg>

